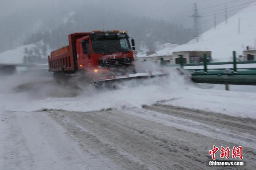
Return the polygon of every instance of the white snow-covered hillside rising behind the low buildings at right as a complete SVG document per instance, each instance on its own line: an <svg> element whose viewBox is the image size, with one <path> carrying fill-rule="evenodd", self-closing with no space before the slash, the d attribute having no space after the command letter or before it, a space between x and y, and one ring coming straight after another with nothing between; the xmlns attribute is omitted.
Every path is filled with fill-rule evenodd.
<svg viewBox="0 0 256 170"><path fill-rule="evenodd" d="M255 48L256 41L256 3L243 9L236 15L203 33L199 42L195 39L187 44L178 46L169 53L175 51L212 51L212 58L215 61L230 61L232 51L237 51L237 55L242 54L246 46ZM240 24L239 24L240 20ZM162 51L163 52L163 51Z"/></svg>

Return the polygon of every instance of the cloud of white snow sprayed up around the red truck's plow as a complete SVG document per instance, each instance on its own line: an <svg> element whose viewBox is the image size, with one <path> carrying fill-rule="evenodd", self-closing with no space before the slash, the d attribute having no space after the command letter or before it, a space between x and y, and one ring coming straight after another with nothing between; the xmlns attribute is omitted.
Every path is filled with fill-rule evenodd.
<svg viewBox="0 0 256 170"><path fill-rule="evenodd" d="M1 84L0 106L13 111L62 109L86 112L124 109L178 98L191 87L171 67L162 68L150 62L136 63L136 67L138 71L164 69L169 76L123 81L117 84L117 89L95 89L91 85L83 86L81 82L74 86L62 86L55 84L50 77L38 75L11 76Z"/></svg>

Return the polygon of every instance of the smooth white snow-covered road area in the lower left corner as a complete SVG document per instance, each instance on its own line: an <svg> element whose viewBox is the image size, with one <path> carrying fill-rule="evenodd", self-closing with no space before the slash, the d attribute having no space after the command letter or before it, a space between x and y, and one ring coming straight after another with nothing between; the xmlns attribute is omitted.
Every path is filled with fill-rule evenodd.
<svg viewBox="0 0 256 170"><path fill-rule="evenodd" d="M120 169L108 158L81 151L46 113L2 112L0 120L1 170Z"/></svg>

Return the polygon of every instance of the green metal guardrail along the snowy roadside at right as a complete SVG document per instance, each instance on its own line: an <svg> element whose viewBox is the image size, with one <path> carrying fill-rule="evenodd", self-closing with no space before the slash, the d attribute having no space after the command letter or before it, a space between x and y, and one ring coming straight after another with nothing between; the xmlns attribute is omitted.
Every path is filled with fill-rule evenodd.
<svg viewBox="0 0 256 170"><path fill-rule="evenodd" d="M236 51L233 51L232 62L207 62L207 55L204 54L203 63L183 63L183 56L180 56L180 67L185 66L204 66L203 69L185 69L190 70L191 80L197 83L210 84L232 84L232 85L256 85L256 68L239 68L237 64L254 64L256 61L237 61ZM208 69L208 65L233 65L233 68L227 69ZM177 65L166 65L177 66ZM226 87L226 89L228 89Z"/></svg>

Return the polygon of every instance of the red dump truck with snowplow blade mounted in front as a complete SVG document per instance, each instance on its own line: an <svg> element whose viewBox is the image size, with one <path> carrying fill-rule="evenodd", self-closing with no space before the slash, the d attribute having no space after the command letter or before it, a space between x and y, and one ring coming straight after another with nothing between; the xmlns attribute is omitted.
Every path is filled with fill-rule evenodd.
<svg viewBox="0 0 256 170"><path fill-rule="evenodd" d="M68 35L69 45L48 56L49 71L57 80L82 75L87 82L102 85L112 80L152 76L136 73L133 65L134 40L127 32L92 31Z"/></svg>

